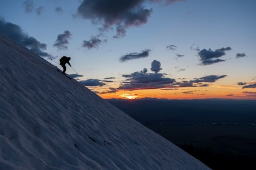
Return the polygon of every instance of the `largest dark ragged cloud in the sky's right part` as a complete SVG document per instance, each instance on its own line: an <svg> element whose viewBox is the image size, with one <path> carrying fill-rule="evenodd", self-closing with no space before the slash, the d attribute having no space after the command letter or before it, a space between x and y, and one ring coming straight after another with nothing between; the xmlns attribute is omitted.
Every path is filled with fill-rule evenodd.
<svg viewBox="0 0 256 170"><path fill-rule="evenodd" d="M214 51L212 51L211 49L209 49L209 50L203 49L203 50L200 50L200 52L198 52L198 56L200 57L202 65L212 65L214 63L225 61L225 60L219 59L219 58L224 56L226 54L225 51L227 51L227 50L231 50L231 48L223 47L221 49L216 49Z"/></svg>

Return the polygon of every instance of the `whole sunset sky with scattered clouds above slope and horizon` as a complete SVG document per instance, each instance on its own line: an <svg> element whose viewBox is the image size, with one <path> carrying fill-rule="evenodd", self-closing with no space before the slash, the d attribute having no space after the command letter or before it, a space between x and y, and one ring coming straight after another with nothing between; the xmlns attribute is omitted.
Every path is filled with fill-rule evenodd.
<svg viewBox="0 0 256 170"><path fill-rule="evenodd" d="M256 100L255 6L8 0L0 2L0 34L59 68L69 56L78 74L68 65L67 73L102 98Z"/></svg>

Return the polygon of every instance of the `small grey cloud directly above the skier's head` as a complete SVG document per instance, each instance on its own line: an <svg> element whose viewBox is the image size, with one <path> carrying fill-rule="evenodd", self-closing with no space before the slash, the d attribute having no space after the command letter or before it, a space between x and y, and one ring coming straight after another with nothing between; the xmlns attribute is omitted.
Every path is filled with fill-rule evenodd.
<svg viewBox="0 0 256 170"><path fill-rule="evenodd" d="M67 50L68 49L68 40L71 38L70 31L64 31L63 34L57 36L57 40L54 43L54 47L57 47L58 50Z"/></svg>

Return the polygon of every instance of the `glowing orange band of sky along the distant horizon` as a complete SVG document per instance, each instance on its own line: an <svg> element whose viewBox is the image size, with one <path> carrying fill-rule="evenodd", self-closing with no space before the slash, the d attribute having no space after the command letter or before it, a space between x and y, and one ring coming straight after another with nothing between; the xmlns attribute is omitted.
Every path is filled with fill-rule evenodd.
<svg viewBox="0 0 256 170"><path fill-rule="evenodd" d="M251 91L253 94L243 93ZM133 91L119 90L116 93L98 94L100 97L109 98L166 98L166 99L205 99L205 98L226 98L240 100L256 100L256 89L242 89L234 86L208 86L197 88L177 88L177 89L138 89Z"/></svg>

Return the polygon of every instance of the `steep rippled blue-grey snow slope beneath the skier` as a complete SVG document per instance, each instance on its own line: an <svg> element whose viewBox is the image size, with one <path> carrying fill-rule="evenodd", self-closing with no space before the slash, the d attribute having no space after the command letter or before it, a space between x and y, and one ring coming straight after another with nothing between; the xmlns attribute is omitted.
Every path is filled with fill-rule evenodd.
<svg viewBox="0 0 256 170"><path fill-rule="evenodd" d="M0 36L0 169L209 169Z"/></svg>

